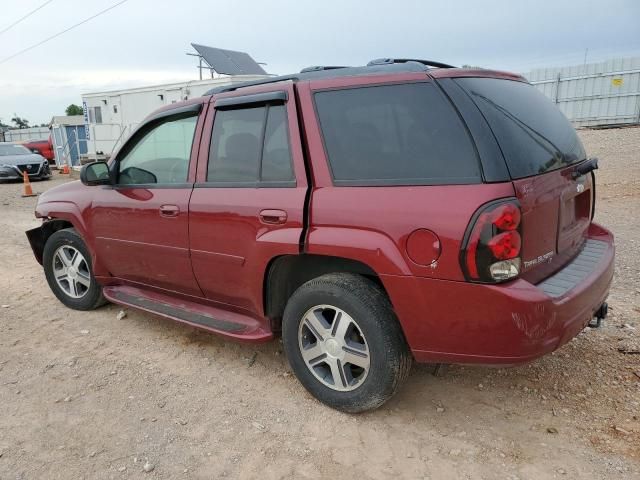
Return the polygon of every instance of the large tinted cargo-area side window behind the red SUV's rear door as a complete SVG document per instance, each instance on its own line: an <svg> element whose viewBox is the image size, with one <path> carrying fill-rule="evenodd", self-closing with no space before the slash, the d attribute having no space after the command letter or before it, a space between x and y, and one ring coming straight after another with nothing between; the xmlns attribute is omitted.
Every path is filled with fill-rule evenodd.
<svg viewBox="0 0 640 480"><path fill-rule="evenodd" d="M466 128L430 83L327 90L315 103L336 185L481 181Z"/></svg>

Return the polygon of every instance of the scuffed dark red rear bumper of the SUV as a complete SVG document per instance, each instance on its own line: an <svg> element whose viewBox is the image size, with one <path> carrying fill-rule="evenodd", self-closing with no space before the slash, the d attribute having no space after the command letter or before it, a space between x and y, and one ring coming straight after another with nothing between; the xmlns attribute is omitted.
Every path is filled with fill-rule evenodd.
<svg viewBox="0 0 640 480"><path fill-rule="evenodd" d="M588 238L601 247L597 261L564 292L546 281L481 285L382 276L416 360L518 364L571 340L606 300L613 279L613 234L591 224Z"/></svg>

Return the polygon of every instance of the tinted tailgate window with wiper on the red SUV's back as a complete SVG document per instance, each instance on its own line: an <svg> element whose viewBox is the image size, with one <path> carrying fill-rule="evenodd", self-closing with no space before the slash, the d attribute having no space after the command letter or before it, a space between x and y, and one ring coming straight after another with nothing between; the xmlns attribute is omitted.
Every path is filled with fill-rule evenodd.
<svg viewBox="0 0 640 480"><path fill-rule="evenodd" d="M575 129L532 85L496 78L456 81L489 122L512 178L538 175L585 158Z"/></svg>

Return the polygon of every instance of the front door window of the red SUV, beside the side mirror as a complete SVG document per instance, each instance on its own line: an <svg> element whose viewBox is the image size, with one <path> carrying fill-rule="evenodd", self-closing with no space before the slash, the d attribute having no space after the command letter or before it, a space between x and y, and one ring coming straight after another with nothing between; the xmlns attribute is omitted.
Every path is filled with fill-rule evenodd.
<svg viewBox="0 0 640 480"><path fill-rule="evenodd" d="M120 160L118 183L185 183L197 121L168 117L155 125Z"/></svg>

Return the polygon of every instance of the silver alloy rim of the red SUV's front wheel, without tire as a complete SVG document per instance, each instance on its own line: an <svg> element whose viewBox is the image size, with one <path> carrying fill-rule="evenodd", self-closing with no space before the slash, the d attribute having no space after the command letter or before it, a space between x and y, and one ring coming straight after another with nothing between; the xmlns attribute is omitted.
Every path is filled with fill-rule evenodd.
<svg viewBox="0 0 640 480"><path fill-rule="evenodd" d="M80 251L70 245L53 254L53 276L62 291L71 298L82 298L91 287L89 264Z"/></svg>

